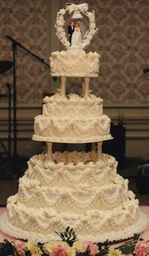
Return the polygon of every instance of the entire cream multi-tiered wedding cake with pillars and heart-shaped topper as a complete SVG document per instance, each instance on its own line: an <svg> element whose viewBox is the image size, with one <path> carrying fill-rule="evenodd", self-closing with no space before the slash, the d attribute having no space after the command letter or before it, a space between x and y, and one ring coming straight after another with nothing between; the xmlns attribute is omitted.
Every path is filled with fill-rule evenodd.
<svg viewBox="0 0 149 256"><path fill-rule="evenodd" d="M89 29L81 37L81 23L69 43L64 15L86 15ZM83 15L83 16L82 16ZM33 156L19 180L18 193L8 198L4 232L23 239L45 242L70 226L77 238L91 241L126 239L146 228L138 199L128 190L128 180L117 174L117 161L102 153L102 142L112 139L110 118L103 114L103 100L89 90L97 77L100 55L83 48L97 32L95 13L87 4L68 4L57 13L57 36L66 51L51 53L51 76L60 78L60 90L45 97L42 114L35 118L33 140L47 145L44 154ZM79 34L77 34L77 32ZM78 40L79 38L79 40ZM66 95L66 78L81 77L81 95ZM55 152L52 143L97 142L97 151Z"/></svg>

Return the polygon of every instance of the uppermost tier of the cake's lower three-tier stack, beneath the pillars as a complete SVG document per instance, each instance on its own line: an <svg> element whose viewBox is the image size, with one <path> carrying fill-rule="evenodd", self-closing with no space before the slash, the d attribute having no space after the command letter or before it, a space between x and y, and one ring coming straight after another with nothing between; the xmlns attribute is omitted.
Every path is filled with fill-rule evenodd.
<svg viewBox="0 0 149 256"><path fill-rule="evenodd" d="M80 180L92 185L108 184L117 173L117 161L108 154L102 154L100 161L92 152L56 152L54 162L46 163L47 154L33 156L28 162L26 177L37 180L40 184L54 187L76 186Z"/></svg>

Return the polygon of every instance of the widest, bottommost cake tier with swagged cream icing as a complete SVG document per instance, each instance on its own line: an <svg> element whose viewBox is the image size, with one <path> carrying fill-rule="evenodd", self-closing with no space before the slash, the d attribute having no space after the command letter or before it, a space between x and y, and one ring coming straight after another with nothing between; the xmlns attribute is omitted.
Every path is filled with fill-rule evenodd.
<svg viewBox="0 0 149 256"><path fill-rule="evenodd" d="M113 234L118 233L117 239L121 239L126 230L129 229L130 232L135 226L134 232L137 232L137 227L140 226L140 212L136 200L129 201L121 209L104 212L88 210L85 214L59 213L49 208L31 208L12 201L11 198L7 206L8 226L20 234L25 234L26 238L34 234L39 241L57 240L54 231L64 231L68 226L75 229L80 240L105 241L109 238L109 241L113 241L116 239Z"/></svg>

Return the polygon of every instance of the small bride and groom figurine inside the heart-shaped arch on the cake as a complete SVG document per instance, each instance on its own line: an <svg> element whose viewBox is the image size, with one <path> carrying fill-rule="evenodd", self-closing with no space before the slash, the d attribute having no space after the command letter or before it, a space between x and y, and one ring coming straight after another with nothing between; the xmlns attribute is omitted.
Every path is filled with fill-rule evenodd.
<svg viewBox="0 0 149 256"><path fill-rule="evenodd" d="M71 24L68 26L69 43L72 47L81 47L82 34L80 29L80 23L76 24L71 20Z"/></svg>

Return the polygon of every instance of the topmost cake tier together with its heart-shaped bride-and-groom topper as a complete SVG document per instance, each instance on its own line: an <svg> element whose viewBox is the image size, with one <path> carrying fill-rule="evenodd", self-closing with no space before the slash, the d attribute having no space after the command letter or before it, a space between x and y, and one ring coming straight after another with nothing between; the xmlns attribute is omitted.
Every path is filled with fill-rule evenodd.
<svg viewBox="0 0 149 256"><path fill-rule="evenodd" d="M70 18L67 24L66 13ZM66 47L66 51L51 53L51 76L97 77L100 55L92 51L85 53L83 50L98 30L95 11L88 11L88 3L66 3L66 9L57 12L55 27L56 35Z"/></svg>

